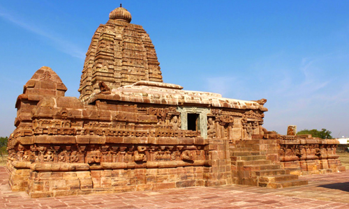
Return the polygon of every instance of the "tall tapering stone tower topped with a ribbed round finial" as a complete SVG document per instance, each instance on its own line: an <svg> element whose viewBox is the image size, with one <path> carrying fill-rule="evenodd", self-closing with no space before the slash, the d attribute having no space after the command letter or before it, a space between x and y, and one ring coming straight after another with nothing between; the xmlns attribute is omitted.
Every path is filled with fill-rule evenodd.
<svg viewBox="0 0 349 209"><path fill-rule="evenodd" d="M98 93L98 84L109 88L139 81L163 82L160 63L149 35L142 26L130 24L131 14L119 7L101 24L86 54L80 82L80 100Z"/></svg>

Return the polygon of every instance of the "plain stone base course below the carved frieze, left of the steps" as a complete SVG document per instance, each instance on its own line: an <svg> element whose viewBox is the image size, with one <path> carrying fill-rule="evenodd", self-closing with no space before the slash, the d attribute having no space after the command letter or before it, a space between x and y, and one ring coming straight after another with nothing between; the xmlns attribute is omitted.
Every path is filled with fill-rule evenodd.
<svg viewBox="0 0 349 209"><path fill-rule="evenodd" d="M77 165L78 167L78 165ZM18 171L18 170L16 170ZM29 171L31 198L204 186L204 167ZM27 173L26 173L27 174ZM23 181L24 183L25 181Z"/></svg>

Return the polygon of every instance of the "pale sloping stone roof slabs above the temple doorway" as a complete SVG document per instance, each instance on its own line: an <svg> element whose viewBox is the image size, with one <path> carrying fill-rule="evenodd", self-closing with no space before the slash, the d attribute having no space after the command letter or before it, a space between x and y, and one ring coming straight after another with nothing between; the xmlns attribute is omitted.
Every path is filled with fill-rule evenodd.
<svg viewBox="0 0 349 209"><path fill-rule="evenodd" d="M255 101L222 98L221 94L203 91L184 91L176 84L161 82L137 82L131 86L113 88L108 93L95 93L87 100L88 104L96 100L112 100L121 102L167 104L175 106L198 105L208 107L225 107L232 109L260 109L268 111L266 107Z"/></svg>

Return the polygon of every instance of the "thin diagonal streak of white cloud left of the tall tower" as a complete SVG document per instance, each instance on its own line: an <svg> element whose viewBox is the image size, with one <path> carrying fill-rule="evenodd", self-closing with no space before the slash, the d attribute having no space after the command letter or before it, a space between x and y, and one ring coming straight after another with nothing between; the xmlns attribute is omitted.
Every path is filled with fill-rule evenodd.
<svg viewBox="0 0 349 209"><path fill-rule="evenodd" d="M51 44L61 52L69 54L70 56L76 57L78 59L83 60L85 58L84 51L80 49L80 47L77 47L67 40L61 40L61 38L54 36L53 33L47 32L47 30L44 31L43 29L34 26L34 24L31 24L29 20L22 20L18 15L12 15L8 12L5 12L2 7L0 7L0 17L4 20L7 20L8 22L20 26L22 29L30 31L31 33L35 33L38 36L47 38L48 40L50 40Z"/></svg>

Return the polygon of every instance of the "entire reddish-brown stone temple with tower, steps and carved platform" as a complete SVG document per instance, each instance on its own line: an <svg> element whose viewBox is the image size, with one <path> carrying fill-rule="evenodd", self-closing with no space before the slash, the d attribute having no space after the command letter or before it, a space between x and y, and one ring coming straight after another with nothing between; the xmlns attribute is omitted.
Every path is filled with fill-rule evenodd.
<svg viewBox="0 0 349 209"><path fill-rule="evenodd" d="M8 141L10 187L31 197L243 184L307 184L344 171L339 143L268 132L267 100L165 84L149 35L122 7L94 33L80 98L48 67L24 85ZM292 127L291 127L292 129Z"/></svg>

